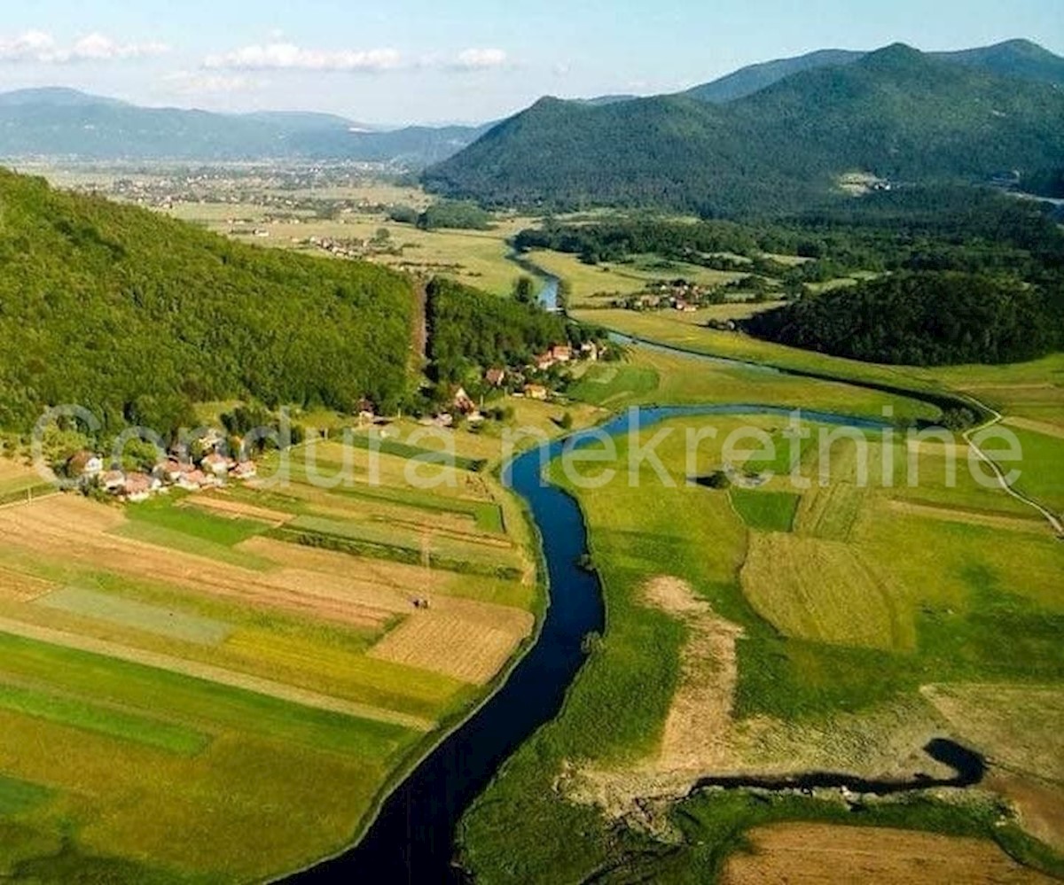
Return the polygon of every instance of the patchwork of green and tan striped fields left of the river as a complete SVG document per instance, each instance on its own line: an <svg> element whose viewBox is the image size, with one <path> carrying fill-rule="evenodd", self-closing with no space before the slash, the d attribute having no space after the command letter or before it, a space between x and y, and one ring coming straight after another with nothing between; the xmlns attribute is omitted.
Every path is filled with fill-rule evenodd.
<svg viewBox="0 0 1064 885"><path fill-rule="evenodd" d="M414 487L394 449L371 484L364 448L322 454L351 481L0 508L0 878L245 882L337 851L531 635L531 538L489 472Z"/></svg>

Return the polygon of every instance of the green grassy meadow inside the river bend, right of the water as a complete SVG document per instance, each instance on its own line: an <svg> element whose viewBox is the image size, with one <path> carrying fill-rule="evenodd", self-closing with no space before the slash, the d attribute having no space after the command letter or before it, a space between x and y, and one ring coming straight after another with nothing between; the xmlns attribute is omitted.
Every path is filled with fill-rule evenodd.
<svg viewBox="0 0 1064 885"><path fill-rule="evenodd" d="M620 372L603 386L620 388L619 379ZM760 394L767 396L772 383L749 382L738 401L763 401ZM645 386L639 390L636 382L615 394L633 401L651 396ZM577 881L606 868L636 880L652 871L655 881L702 881L708 869L722 870L749 828L780 820L852 822L834 802L781 798L766 804L742 792L696 794L662 806L672 832L681 833L679 847L621 822L619 816L633 812L641 796L683 795L697 778L697 770L661 768L662 741L676 716L697 714L674 707L681 696L685 704L697 703L697 694L680 690L692 662L719 653L712 652L719 644L701 645L687 622L642 603L643 588L663 572L686 582L714 616L742 631L734 696L721 707L732 720L724 725L715 770L941 774L920 748L944 731L962 740L972 731L966 734L960 723L955 731L944 727L921 692L929 679L963 689L974 709L984 697L999 704L1003 686L1028 691L1064 685L1064 656L1053 638L1064 628L1057 578L1064 550L1044 523L1018 516L1016 502L1002 491L978 486L966 471L951 487L942 454L932 450L917 458L918 488L885 484L879 469L884 458L908 458L900 440L871 447L877 467L866 487L857 482L857 453L845 444L828 450L825 485L818 481L822 456L808 447L801 454L812 479L807 488L794 489L782 478L764 489L688 486L682 481L689 464L680 431L710 422L719 433L703 442L698 474L724 463L722 439L731 430L752 424L778 437L782 419L714 416L666 424L677 432L658 453L675 487L663 487L649 467L641 473L642 487L625 482L625 440L618 441L620 478L603 487L572 487L554 470L584 510L609 627L563 714L517 752L466 815L464 858L484 882ZM645 431L643 440L659 430ZM917 495L937 501L937 508L914 513L899 506ZM1000 521L968 521L972 506ZM704 666L712 671L720 664L708 657ZM993 695L979 687L987 684L997 686ZM721 699L705 697L704 703ZM1021 727L995 718L999 708L965 714L980 723L979 749L992 759L1014 759L1008 750L1023 728L1033 746L1017 777L1032 783L1053 777L1042 764L1053 756L1046 719L1051 708L1017 707ZM863 822L996 839L1013 857L1059 869L1052 852L1024 834L1015 819L996 825L996 800L982 806L978 797L972 801L975 807L933 797L887 801ZM875 832L871 844L886 846ZM987 856L1003 856L985 845L979 850ZM948 869L963 874L960 866Z"/></svg>

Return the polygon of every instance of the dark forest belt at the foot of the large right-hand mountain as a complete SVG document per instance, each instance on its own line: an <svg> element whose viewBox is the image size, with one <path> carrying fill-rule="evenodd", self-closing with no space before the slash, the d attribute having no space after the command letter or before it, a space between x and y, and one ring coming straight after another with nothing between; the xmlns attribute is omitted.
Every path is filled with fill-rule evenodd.
<svg viewBox="0 0 1064 885"><path fill-rule="evenodd" d="M830 210L743 223L647 214L586 223L548 219L542 229L521 231L515 245L568 252L588 264L654 254L799 282L899 270L1037 280L1064 270L1064 232L1045 204L955 186L876 193ZM812 261L787 267L765 257L770 254Z"/></svg>

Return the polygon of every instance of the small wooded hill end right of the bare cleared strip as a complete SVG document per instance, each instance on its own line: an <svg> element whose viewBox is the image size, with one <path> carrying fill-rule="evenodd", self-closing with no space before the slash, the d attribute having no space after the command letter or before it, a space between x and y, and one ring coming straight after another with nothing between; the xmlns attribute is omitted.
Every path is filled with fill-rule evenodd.
<svg viewBox="0 0 1064 885"><path fill-rule="evenodd" d="M450 280L429 284L432 380L459 382L492 367L523 366L569 332L558 314L534 300L499 298Z"/></svg>

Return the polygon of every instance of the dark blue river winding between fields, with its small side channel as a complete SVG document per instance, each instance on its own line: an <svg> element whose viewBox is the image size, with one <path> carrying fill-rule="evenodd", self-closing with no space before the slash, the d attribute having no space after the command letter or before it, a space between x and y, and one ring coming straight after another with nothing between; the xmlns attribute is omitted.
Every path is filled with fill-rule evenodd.
<svg viewBox="0 0 1064 885"><path fill-rule="evenodd" d="M789 414L788 410L768 406L714 404L644 408L637 412L637 421L638 427L649 428L681 416ZM831 413L802 414L808 420L829 424L884 427L876 421ZM599 430L624 433L629 429L629 421L628 414L619 415ZM459 820L506 757L537 728L558 715L584 661L584 637L603 629L598 578L580 567L581 558L587 553L580 508L569 495L548 484L542 475L542 466L561 454L565 446L581 446L591 439L587 431L581 431L565 440L544 444L519 455L504 470L504 480L525 500L535 522L549 578L550 605L535 644L500 688L388 796L358 846L290 881L349 882L366 876L388 883L464 881L463 873L451 866ZM968 784L980 780L981 761L972 761L971 754L964 755L962 748L946 744L928 749L941 761L960 763L953 765L958 779L949 783ZM928 786L922 781L877 785L876 782L858 782L846 775L825 773L781 782L779 786L805 787L821 783L857 789L882 787L891 792ZM708 781L705 785L737 787L768 786L768 783L721 779Z"/></svg>

